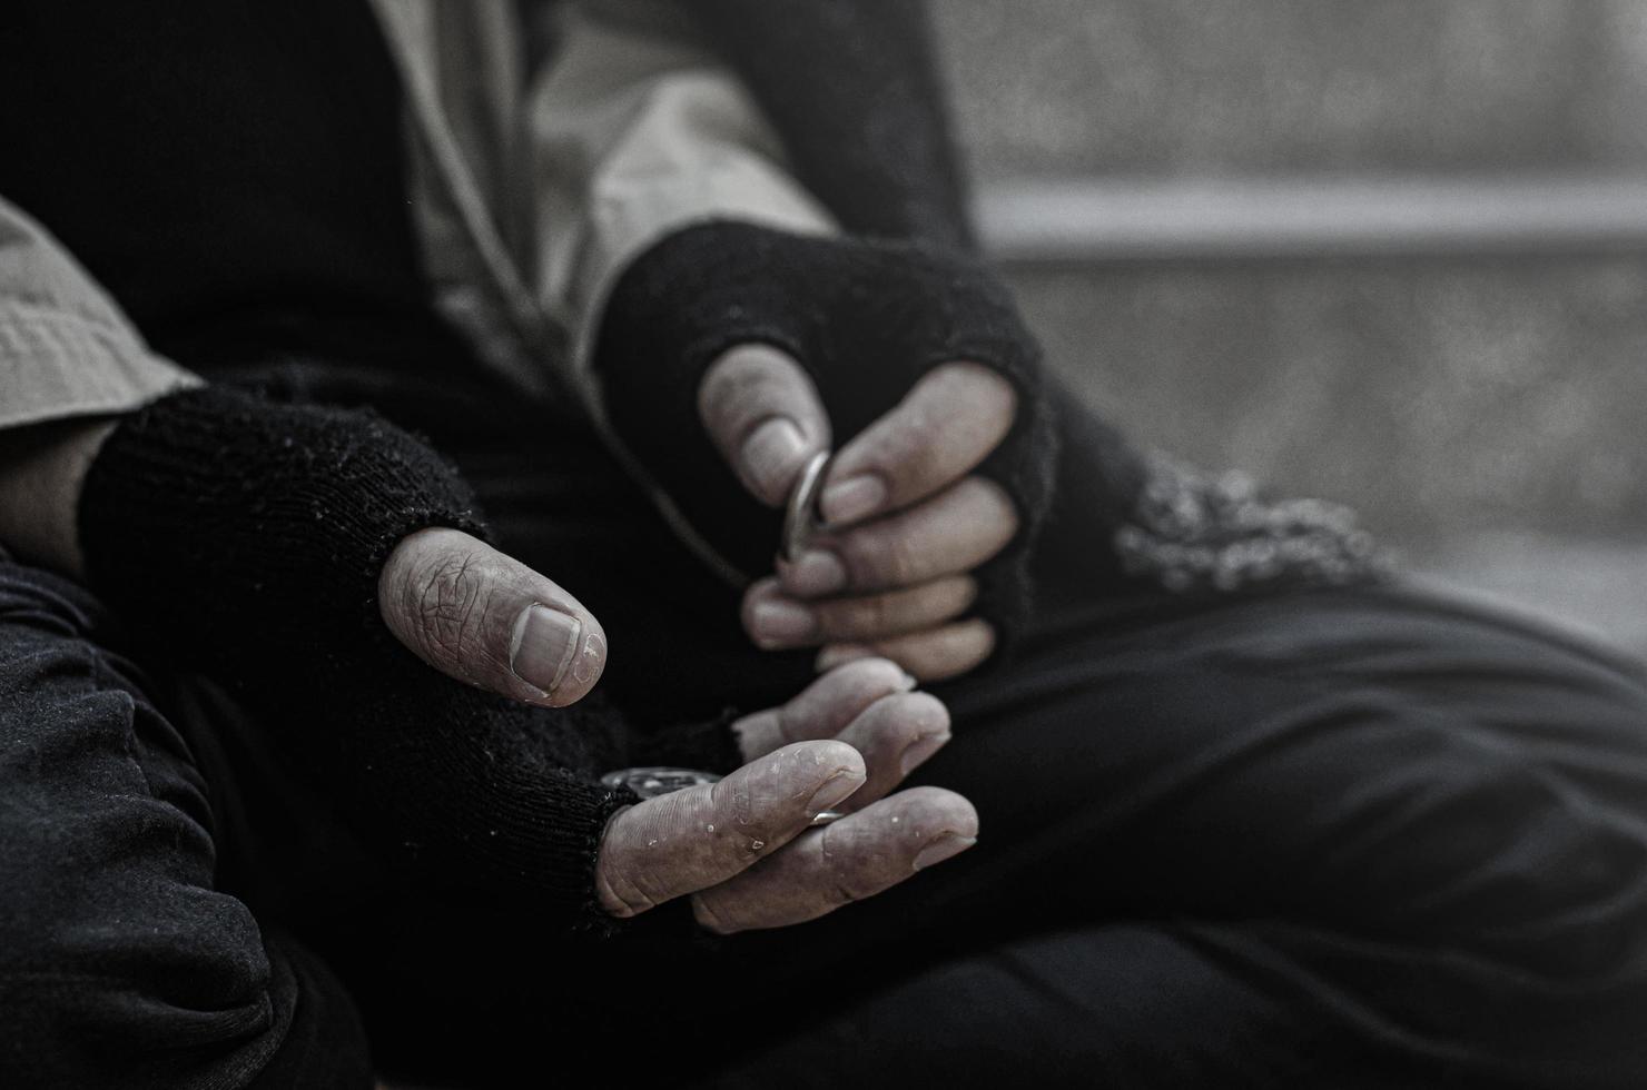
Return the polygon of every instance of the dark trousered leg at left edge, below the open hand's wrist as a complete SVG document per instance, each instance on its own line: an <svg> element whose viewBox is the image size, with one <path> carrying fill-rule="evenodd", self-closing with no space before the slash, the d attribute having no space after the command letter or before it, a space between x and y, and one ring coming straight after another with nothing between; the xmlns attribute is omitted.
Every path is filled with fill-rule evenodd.
<svg viewBox="0 0 1647 1090"><path fill-rule="evenodd" d="M331 971L217 891L209 785L112 639L0 557L0 1083L369 1087Z"/></svg>

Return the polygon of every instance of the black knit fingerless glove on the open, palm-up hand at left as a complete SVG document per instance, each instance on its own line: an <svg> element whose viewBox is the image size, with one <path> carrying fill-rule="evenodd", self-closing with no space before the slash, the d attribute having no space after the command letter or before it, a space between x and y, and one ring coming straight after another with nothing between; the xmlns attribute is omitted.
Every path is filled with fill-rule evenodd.
<svg viewBox="0 0 1647 1090"><path fill-rule="evenodd" d="M616 711L532 708L418 662L377 606L408 533L486 527L458 474L369 412L201 389L124 420L86 479L92 586L156 657L226 683L343 817L420 879L575 920L639 762ZM730 767L730 731L665 734Z"/></svg>

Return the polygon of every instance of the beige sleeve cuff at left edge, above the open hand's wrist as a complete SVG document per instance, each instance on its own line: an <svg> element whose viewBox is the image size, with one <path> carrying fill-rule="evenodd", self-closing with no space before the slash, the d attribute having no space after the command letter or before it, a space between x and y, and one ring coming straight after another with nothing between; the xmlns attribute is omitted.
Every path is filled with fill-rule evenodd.
<svg viewBox="0 0 1647 1090"><path fill-rule="evenodd" d="M153 356L68 250L0 199L0 428L127 412L196 382Z"/></svg>

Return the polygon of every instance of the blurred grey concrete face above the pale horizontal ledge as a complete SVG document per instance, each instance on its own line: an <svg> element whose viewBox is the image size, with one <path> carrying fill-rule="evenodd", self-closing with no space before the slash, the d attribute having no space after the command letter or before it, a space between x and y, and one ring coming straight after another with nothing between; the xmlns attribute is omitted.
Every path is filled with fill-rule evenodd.
<svg viewBox="0 0 1647 1090"><path fill-rule="evenodd" d="M1647 165L1639 0L935 0L983 176Z"/></svg>

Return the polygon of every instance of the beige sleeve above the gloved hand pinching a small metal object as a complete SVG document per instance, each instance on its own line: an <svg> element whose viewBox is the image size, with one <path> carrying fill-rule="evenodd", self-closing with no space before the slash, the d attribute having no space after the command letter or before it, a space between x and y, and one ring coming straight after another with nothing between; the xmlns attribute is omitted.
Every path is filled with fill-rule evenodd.
<svg viewBox="0 0 1647 1090"><path fill-rule="evenodd" d="M698 221L830 232L819 203L733 74L679 13L649 0L572 5L560 53L530 91L539 301L572 333L578 385L624 267Z"/></svg>

